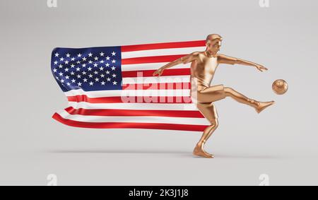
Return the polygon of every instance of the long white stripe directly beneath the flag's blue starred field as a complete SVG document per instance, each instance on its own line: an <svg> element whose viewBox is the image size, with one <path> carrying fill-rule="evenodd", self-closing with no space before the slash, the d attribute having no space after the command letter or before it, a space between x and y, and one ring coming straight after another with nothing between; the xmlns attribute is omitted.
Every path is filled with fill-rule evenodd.
<svg viewBox="0 0 318 200"><path fill-rule="evenodd" d="M105 98L105 97L129 97L129 96L144 96L144 97L189 97L190 90L100 90L85 92L83 90L71 90L65 93L66 96L87 95L88 98Z"/></svg>

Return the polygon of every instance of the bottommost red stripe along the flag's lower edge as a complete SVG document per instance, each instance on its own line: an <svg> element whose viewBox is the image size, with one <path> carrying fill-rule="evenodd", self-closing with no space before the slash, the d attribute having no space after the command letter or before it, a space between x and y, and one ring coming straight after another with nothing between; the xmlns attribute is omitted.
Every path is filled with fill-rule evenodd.
<svg viewBox="0 0 318 200"><path fill-rule="evenodd" d="M64 119L55 113L53 119L71 127L81 127L90 129L161 129L177 131L204 131L205 125L189 124L157 124L157 123L127 123L127 122L77 122L71 119Z"/></svg>

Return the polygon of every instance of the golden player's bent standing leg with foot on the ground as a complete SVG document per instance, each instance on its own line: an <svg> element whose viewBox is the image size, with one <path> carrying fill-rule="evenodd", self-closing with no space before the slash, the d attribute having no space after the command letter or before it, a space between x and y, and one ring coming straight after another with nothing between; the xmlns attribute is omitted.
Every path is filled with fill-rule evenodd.
<svg viewBox="0 0 318 200"><path fill-rule="evenodd" d="M197 107L204 117L211 122L211 125L206 127L200 141L196 144L196 148L194 148L194 155L205 158L213 158L214 156L212 154L206 153L204 150L204 145L213 132L218 128L218 115L216 112L216 107L213 105L213 103L198 103Z"/></svg>

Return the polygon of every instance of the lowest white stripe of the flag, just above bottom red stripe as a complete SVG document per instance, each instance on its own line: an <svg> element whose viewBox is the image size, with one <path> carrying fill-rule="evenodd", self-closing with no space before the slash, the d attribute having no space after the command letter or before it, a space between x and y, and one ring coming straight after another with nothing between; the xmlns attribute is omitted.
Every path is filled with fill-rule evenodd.
<svg viewBox="0 0 318 200"><path fill-rule="evenodd" d="M69 114L65 110L57 112L64 119L71 119L77 122L129 122L129 123L159 123L159 124L196 124L208 125L208 120L204 118L189 117L116 117L116 116L86 116L79 114Z"/></svg>

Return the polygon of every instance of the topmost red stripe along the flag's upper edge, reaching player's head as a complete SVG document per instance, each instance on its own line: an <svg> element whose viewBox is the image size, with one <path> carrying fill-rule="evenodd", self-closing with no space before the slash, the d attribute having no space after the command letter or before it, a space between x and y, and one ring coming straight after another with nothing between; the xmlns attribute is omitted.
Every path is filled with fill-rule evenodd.
<svg viewBox="0 0 318 200"><path fill-rule="evenodd" d="M189 42L164 42L146 45L126 45L122 46L122 52L134 52L151 49L171 49L171 48L187 48L187 47L204 47L205 40L189 41Z"/></svg>

